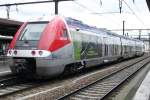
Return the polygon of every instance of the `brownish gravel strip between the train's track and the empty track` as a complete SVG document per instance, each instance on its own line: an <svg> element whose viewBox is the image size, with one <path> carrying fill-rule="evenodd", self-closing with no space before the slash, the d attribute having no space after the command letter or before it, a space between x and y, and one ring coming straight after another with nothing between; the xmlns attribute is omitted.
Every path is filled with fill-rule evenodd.
<svg viewBox="0 0 150 100"><path fill-rule="evenodd" d="M137 62L141 58L145 58L147 56L142 56L129 61L124 61L122 63L111 65L103 69L82 74L80 76L77 75L64 79L52 79L42 86L12 94L5 98L0 98L0 100L55 100L60 98L61 96L64 96L79 88L82 88L87 84L91 84L96 80L102 79L105 76L108 76L116 72L117 70L120 70L129 64L131 65L132 63Z"/></svg>

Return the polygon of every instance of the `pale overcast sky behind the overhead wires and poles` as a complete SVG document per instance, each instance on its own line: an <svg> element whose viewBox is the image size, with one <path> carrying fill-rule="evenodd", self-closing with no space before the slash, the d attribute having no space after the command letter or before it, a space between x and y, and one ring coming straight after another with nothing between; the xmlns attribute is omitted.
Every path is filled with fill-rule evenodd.
<svg viewBox="0 0 150 100"><path fill-rule="evenodd" d="M30 2L42 0L0 0L0 4ZM59 3L59 14L70 16L84 23L100 28L122 29L149 28L150 12L146 0L124 0L122 13L119 13L119 0L75 0ZM49 20L54 15L54 3L13 6L10 8L10 18L19 21L32 21L43 18ZM0 17L6 18L6 7L0 7ZM147 33L144 31L143 33ZM134 32L135 33L135 32ZM137 31L136 31L137 33Z"/></svg>

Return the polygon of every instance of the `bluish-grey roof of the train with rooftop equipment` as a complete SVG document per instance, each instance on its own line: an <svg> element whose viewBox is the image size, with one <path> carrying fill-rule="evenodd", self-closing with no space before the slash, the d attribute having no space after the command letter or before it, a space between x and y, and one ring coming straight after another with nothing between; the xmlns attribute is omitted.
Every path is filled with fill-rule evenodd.
<svg viewBox="0 0 150 100"><path fill-rule="evenodd" d="M105 32L106 34L111 35L111 36L121 37L121 38L129 39L129 40L140 41L140 40L137 40L137 39L133 39L133 38L129 38L129 37L126 37L126 36L122 36L122 35L113 33L109 30L104 29L104 28L97 28L97 27L94 27L94 26L89 26L87 24L84 24L82 21L73 19L71 17L66 17L65 19L66 19L68 25L75 26L77 28L80 28L81 30L90 31L90 32L94 32L94 33L97 33L97 34L100 34L100 31L101 31L101 32Z"/></svg>

